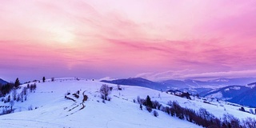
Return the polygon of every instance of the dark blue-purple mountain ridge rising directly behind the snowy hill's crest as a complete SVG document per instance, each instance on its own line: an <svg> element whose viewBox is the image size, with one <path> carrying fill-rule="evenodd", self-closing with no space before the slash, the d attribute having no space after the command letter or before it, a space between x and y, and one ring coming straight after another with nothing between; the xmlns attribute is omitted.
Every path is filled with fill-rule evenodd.
<svg viewBox="0 0 256 128"><path fill-rule="evenodd" d="M166 90L167 86L162 85L158 82L152 82L145 78L123 78L112 81L102 80L101 82L113 83L117 85L129 85L129 86L142 86L147 87L154 90Z"/></svg>

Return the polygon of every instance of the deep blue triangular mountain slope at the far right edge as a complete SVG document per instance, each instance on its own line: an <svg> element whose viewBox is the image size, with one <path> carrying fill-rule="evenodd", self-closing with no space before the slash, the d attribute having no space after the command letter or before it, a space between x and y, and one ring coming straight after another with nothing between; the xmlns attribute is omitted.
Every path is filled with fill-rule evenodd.
<svg viewBox="0 0 256 128"><path fill-rule="evenodd" d="M256 107L256 86L230 99L229 102L238 103L243 106Z"/></svg>

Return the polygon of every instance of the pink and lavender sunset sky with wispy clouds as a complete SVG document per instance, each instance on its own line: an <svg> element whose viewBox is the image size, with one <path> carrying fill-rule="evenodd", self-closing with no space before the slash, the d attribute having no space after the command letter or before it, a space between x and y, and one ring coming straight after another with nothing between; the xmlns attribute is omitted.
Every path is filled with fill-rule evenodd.
<svg viewBox="0 0 256 128"><path fill-rule="evenodd" d="M0 78L256 75L254 0L0 0Z"/></svg>

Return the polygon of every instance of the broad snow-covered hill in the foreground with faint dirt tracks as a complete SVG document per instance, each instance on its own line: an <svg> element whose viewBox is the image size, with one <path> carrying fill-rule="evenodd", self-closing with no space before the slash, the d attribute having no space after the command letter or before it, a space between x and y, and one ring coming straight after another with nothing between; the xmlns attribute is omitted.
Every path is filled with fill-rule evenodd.
<svg viewBox="0 0 256 128"><path fill-rule="evenodd" d="M46 80L46 82L36 82L36 84L36 90L28 93L26 101L14 102L14 114L0 116L1 127L200 127L186 120L171 117L160 110L156 110L158 117L149 113L145 106L143 110L140 110L139 104L134 100L138 96L146 98L147 95L152 101L157 100L163 106L167 106L169 101L178 101L180 106L193 110L206 108L218 118L221 118L223 114L233 114L234 117L240 119L256 118L254 114L242 112L238 110L240 106L230 106L228 102L207 103L198 98L188 100L139 86L121 85L122 90L118 90L117 85L108 84L113 86L110 94L111 100L103 103L99 93L102 84L106 84L103 82L82 78L58 78L54 82ZM78 90L79 98L74 98L72 94ZM21 91L22 89L17 93ZM83 92L88 96L86 102L82 102ZM73 98L75 102L64 98L68 93L70 95L67 96ZM0 106L10 106L10 103L1 102ZM2 107L0 110L4 110ZM246 107L245 109L249 110Z"/></svg>

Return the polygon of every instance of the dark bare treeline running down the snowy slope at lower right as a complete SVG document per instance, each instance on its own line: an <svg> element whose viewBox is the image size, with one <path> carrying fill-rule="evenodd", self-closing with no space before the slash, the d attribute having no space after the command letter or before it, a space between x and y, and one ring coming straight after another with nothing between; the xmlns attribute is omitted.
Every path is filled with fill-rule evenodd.
<svg viewBox="0 0 256 128"><path fill-rule="evenodd" d="M254 118L246 118L240 121L232 114L224 114L223 118L216 118L206 109L200 108L198 111L179 106L177 101L170 101L168 106L162 106L157 101L150 101L150 97L146 99L137 98L139 104L146 106L146 110L157 109L170 114L170 116L185 119L188 122L193 122L198 126L209 128L256 128L256 120ZM141 107L141 106L140 106ZM151 112L151 110L149 110Z"/></svg>

